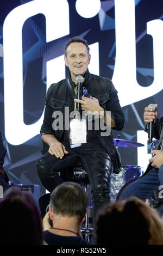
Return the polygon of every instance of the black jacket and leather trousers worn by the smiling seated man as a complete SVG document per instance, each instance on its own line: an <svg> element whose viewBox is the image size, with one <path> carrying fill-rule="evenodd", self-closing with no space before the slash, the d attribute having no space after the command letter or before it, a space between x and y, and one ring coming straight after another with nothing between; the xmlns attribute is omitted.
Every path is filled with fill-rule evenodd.
<svg viewBox="0 0 163 256"><path fill-rule="evenodd" d="M68 80L70 82L68 82ZM96 215L97 209L110 201L109 197L109 180L112 168L118 173L120 171L120 160L114 147L112 135L101 136L101 130L89 131L87 143L82 144L78 148L71 149L68 141L67 131L54 131L52 123L54 121L53 112L61 111L65 120L65 107L69 107L69 113L74 110L74 101L77 96L74 93L74 83L69 77L68 80L62 80L52 84L46 94L45 117L41 126L41 135L52 134L62 144L65 145L69 152L62 159L57 159L54 155L48 153L48 145L43 142L42 153L44 155L37 164L37 173L41 179L43 186L49 192L62 183L62 179L57 171L66 169L74 163L82 162L87 172L91 184L91 192L93 199L93 215ZM121 130L124 125L124 115L118 100L117 91L112 82L103 77L92 75L87 70L83 87L96 97L99 105L111 111L112 118L115 120L116 130ZM82 95L82 94L81 94ZM52 117L53 115L53 117ZM65 128L65 122L63 128Z"/></svg>

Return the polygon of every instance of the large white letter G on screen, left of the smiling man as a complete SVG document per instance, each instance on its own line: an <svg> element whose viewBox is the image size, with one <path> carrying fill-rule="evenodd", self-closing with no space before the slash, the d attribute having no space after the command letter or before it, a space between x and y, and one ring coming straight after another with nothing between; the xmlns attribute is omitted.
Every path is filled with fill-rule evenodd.
<svg viewBox="0 0 163 256"><path fill-rule="evenodd" d="M40 132L42 117L31 125L23 121L22 27L36 14L46 17L46 42L69 34L69 8L66 0L34 0L12 10L3 26L5 137L20 145Z"/></svg>

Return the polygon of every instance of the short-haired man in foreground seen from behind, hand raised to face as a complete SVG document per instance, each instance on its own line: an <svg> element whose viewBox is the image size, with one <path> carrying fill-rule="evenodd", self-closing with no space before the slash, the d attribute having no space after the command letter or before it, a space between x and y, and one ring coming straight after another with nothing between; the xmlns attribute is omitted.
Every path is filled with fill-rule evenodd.
<svg viewBox="0 0 163 256"><path fill-rule="evenodd" d="M59 185L51 194L49 212L43 219L43 239L48 245L89 245L80 231L86 211L87 194L82 186L74 182Z"/></svg>

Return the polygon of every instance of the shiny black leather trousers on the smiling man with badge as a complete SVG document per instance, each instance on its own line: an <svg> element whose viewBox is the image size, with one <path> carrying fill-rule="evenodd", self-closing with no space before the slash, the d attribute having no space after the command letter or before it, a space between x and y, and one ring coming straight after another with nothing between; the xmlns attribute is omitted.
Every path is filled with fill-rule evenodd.
<svg viewBox="0 0 163 256"><path fill-rule="evenodd" d="M81 162L91 184L93 221L95 221L97 210L103 204L110 202L109 183L112 171L110 156L98 139L73 149L66 142L62 144L68 151L67 155L64 155L62 159L57 159L54 155L47 154L42 156L37 164L37 173L42 185L52 192L63 182L57 172Z"/></svg>

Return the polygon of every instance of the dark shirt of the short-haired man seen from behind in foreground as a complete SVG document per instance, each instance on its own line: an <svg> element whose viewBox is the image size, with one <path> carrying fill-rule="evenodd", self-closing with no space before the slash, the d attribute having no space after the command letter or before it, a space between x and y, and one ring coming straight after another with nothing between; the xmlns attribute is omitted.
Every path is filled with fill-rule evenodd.
<svg viewBox="0 0 163 256"><path fill-rule="evenodd" d="M48 245L89 245L89 242L79 236L55 235L48 230L43 231L43 240L47 242Z"/></svg>

